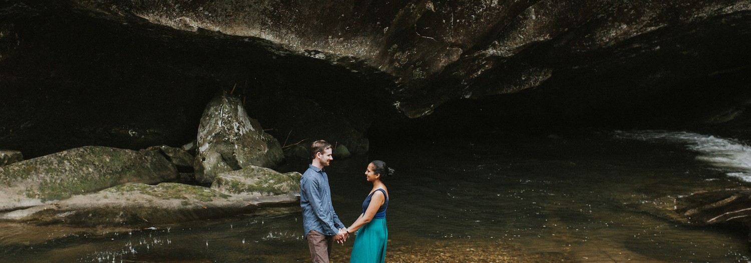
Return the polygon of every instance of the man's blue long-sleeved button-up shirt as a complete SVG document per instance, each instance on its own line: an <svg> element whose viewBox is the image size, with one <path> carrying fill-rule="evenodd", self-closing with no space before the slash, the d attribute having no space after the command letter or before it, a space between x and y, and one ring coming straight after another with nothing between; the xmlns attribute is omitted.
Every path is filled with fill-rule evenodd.
<svg viewBox="0 0 751 263"><path fill-rule="evenodd" d="M314 165L309 165L300 178L300 207L303 208L305 238L311 230L333 236L339 233L339 228L344 228L333 211L328 175Z"/></svg>

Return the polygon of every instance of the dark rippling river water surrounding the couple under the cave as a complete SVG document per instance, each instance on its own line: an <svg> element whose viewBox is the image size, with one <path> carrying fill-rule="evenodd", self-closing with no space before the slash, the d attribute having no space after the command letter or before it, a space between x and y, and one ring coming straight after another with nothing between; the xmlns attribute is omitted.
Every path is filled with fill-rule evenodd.
<svg viewBox="0 0 751 263"><path fill-rule="evenodd" d="M745 232L682 225L665 209L678 195L748 187L751 151L737 141L615 131L400 144L333 162L334 207L346 224L370 189L363 176L369 159L397 169L386 182L390 249L420 249L436 240L502 241L518 253L572 261L751 258ZM280 170L304 168L295 163ZM152 229L14 223L2 229L2 258L13 262L309 261L296 206ZM336 246L334 254L348 258L348 246Z"/></svg>

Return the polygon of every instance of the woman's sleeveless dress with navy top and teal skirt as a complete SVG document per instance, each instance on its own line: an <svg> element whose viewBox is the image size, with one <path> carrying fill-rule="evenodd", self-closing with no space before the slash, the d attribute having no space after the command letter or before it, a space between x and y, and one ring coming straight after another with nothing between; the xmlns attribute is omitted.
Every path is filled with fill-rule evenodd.
<svg viewBox="0 0 751 263"><path fill-rule="evenodd" d="M386 241L388 240L388 228L386 227L386 207L388 207L388 195L384 189L375 191L383 192L386 201L379 207L378 213L375 213L373 219L357 230L357 237L354 237L352 245L352 255L349 258L350 263L383 263L386 261ZM365 201L363 201L363 213L370 205L370 198L375 194L373 191Z"/></svg>

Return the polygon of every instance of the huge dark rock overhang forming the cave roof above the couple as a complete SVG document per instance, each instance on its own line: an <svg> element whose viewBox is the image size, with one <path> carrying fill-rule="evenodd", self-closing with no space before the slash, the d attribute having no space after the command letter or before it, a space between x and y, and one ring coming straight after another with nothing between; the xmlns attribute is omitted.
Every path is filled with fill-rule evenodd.
<svg viewBox="0 0 751 263"><path fill-rule="evenodd" d="M91 116L84 112L91 104L76 104L104 98L93 105L104 107L119 97L127 101L119 104L122 111L99 115L125 118L87 131L98 141L127 141L113 146L137 149L188 141L202 105L219 88L237 89L256 105L249 106L252 117L275 129L270 133L280 142L306 138L285 126L305 107L269 107L285 98L317 105L339 119L333 125L347 122L342 132L360 137L383 123L431 114L457 125L476 122L457 110L510 125L526 118L665 128L742 112L751 98L743 92L751 55L740 44L751 40L747 1L318 4L77 0L26 10L6 6L19 13L11 20L32 23L2 28L0 68L9 84L2 92L26 102L0 102L7 108L38 104L11 114L41 112L36 116L53 124L63 118L56 130L65 130L86 121L73 115ZM45 17L51 5L67 9ZM719 85L710 86L714 81ZM44 86L39 90L53 98L35 98L32 86ZM71 114L50 113L53 107ZM0 128L16 132L2 141L21 141L19 130L41 125L3 119L8 125ZM81 141L71 146L91 141L69 138Z"/></svg>

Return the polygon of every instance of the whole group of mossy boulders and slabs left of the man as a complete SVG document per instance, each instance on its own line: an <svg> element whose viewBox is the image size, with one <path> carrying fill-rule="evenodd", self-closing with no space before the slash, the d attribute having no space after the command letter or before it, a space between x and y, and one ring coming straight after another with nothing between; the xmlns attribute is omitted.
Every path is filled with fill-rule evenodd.
<svg viewBox="0 0 751 263"><path fill-rule="evenodd" d="M282 147L238 98L216 95L197 141L143 150L87 146L25 161L4 154L3 162L14 162L0 166L0 219L137 227L297 204L302 175L267 168L283 161Z"/></svg>

